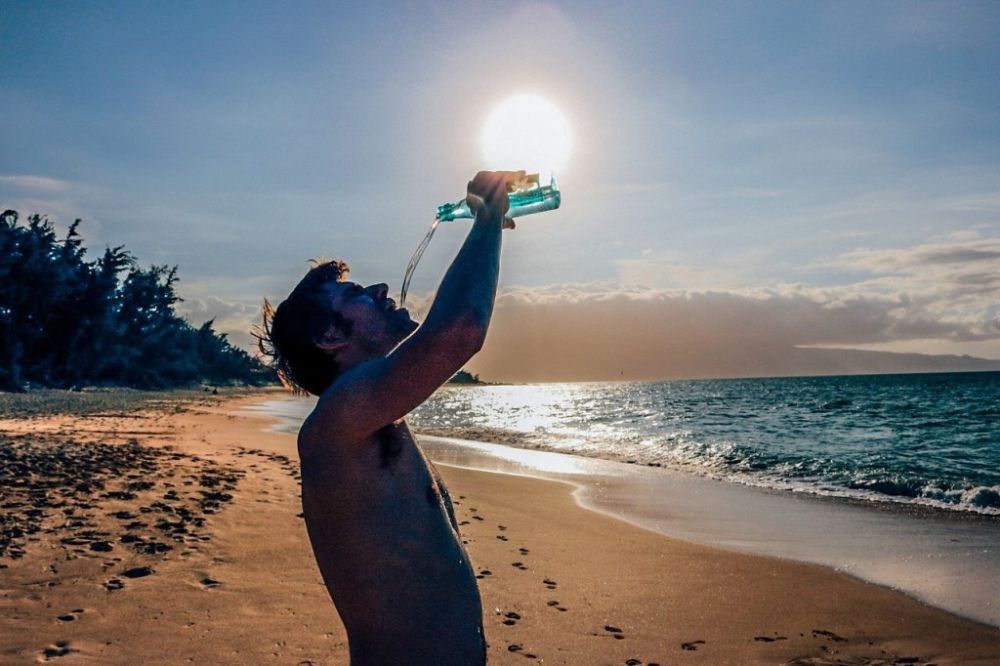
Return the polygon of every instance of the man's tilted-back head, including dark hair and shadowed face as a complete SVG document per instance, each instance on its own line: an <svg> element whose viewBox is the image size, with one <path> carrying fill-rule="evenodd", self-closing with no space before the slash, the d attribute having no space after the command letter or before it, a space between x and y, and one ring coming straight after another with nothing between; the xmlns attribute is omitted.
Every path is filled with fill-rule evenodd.
<svg viewBox="0 0 1000 666"><path fill-rule="evenodd" d="M264 302L261 351L285 386L319 395L343 371L385 356L417 328L385 284L346 281L343 261L318 263L272 308Z"/></svg>

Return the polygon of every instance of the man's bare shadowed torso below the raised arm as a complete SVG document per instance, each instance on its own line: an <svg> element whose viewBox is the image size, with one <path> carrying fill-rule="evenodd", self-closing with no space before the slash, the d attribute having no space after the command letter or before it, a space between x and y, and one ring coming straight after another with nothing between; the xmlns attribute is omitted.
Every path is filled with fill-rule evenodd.
<svg viewBox="0 0 1000 666"><path fill-rule="evenodd" d="M317 437L328 441L321 460L303 460L303 507L352 663L485 663L475 575L447 490L409 428L340 442L307 422L300 442Z"/></svg>

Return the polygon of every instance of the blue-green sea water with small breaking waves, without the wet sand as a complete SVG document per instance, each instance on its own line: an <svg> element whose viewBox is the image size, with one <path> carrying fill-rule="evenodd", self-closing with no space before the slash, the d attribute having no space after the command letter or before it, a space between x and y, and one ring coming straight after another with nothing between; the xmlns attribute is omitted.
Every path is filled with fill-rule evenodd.
<svg viewBox="0 0 1000 666"><path fill-rule="evenodd" d="M415 430L1000 515L1000 373L450 387Z"/></svg>

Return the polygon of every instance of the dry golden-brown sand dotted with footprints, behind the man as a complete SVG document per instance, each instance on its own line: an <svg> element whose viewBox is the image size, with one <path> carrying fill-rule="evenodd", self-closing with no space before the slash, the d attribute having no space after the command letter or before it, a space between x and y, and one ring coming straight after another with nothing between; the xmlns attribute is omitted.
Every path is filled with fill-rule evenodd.
<svg viewBox="0 0 1000 666"><path fill-rule="evenodd" d="M0 415L0 661L347 663L299 515L294 437L240 411L261 399ZM997 628L828 568L667 538L580 507L570 484L439 469L491 663L1000 655Z"/></svg>

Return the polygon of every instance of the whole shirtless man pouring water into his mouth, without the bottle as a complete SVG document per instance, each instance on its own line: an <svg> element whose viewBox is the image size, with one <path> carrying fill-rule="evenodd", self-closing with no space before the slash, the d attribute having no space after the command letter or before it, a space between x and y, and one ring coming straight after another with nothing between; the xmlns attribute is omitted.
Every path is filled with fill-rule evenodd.
<svg viewBox="0 0 1000 666"><path fill-rule="evenodd" d="M299 432L302 504L355 666L486 662L482 603L448 491L403 417L483 345L517 177L480 172L469 182L476 219L422 325L385 284L345 281L338 261L266 308L263 342L282 379L319 395Z"/></svg>

